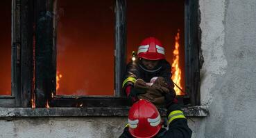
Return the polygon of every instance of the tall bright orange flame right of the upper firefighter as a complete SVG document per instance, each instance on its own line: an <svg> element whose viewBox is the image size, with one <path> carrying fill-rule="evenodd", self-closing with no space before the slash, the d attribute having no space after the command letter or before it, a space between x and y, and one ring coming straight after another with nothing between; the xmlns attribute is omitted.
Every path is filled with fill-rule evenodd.
<svg viewBox="0 0 256 138"><path fill-rule="evenodd" d="M172 77L171 79L173 80L176 85L178 85L181 89L181 70L179 66L179 40L180 40L180 30L178 30L176 37L175 37L175 49L173 50L173 63L171 64L171 69L172 69ZM176 91L177 95L184 95L184 93L177 87L174 86L174 90Z"/></svg>

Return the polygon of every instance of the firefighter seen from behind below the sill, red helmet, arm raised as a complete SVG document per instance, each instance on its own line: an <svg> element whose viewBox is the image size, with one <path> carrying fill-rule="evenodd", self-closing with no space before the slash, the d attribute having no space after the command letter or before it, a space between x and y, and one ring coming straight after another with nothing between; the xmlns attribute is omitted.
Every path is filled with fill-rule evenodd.
<svg viewBox="0 0 256 138"><path fill-rule="evenodd" d="M174 102L175 94L164 96L166 100L169 129L162 128L160 113L153 103L140 99L133 103L128 113L128 124L119 138L189 138L192 131L187 119Z"/></svg>

